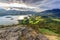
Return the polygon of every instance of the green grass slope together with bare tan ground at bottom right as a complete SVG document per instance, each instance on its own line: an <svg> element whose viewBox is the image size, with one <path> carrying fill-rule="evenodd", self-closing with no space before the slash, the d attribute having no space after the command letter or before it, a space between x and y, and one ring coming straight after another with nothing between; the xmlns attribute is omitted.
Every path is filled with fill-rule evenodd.
<svg viewBox="0 0 60 40"><path fill-rule="evenodd" d="M60 36L49 29L39 28L38 31L44 34L49 40L60 40Z"/></svg>

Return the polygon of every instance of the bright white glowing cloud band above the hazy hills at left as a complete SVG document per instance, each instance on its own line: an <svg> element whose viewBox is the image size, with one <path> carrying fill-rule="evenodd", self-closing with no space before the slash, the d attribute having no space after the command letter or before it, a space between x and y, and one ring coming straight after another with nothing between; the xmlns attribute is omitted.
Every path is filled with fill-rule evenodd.
<svg viewBox="0 0 60 40"><path fill-rule="evenodd" d="M0 7L20 7L20 8L35 8L33 6L29 6L29 5L26 5L26 4L19 4L19 3L0 3Z"/></svg>

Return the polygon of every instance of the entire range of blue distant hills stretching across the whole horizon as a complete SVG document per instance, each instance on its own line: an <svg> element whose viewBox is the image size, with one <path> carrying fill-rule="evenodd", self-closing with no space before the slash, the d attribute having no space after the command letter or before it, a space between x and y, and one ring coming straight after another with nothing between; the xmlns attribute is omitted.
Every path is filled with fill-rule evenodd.
<svg viewBox="0 0 60 40"><path fill-rule="evenodd" d="M45 10L42 12L0 9L0 16L4 16L4 15L27 15L27 14L39 15L42 17L60 18L60 9Z"/></svg>

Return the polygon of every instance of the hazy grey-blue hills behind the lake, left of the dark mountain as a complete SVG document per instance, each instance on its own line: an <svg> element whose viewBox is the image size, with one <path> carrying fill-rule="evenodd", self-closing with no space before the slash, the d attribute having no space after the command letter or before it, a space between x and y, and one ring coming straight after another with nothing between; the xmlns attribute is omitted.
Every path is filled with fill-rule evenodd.
<svg viewBox="0 0 60 40"><path fill-rule="evenodd" d="M5 15L27 15L27 14L32 14L35 15L37 12L34 11L20 11L20 10L2 10L0 12L0 16L5 16Z"/></svg>

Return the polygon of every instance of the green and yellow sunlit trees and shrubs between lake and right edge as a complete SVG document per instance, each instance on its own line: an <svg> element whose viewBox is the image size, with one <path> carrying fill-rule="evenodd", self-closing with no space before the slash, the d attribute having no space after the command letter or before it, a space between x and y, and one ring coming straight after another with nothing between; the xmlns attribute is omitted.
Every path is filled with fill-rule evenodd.
<svg viewBox="0 0 60 40"><path fill-rule="evenodd" d="M41 16L33 16L29 19L21 21L22 24L32 27L34 29L45 28L53 32L60 33L60 22L54 21L51 18L42 18Z"/></svg>

